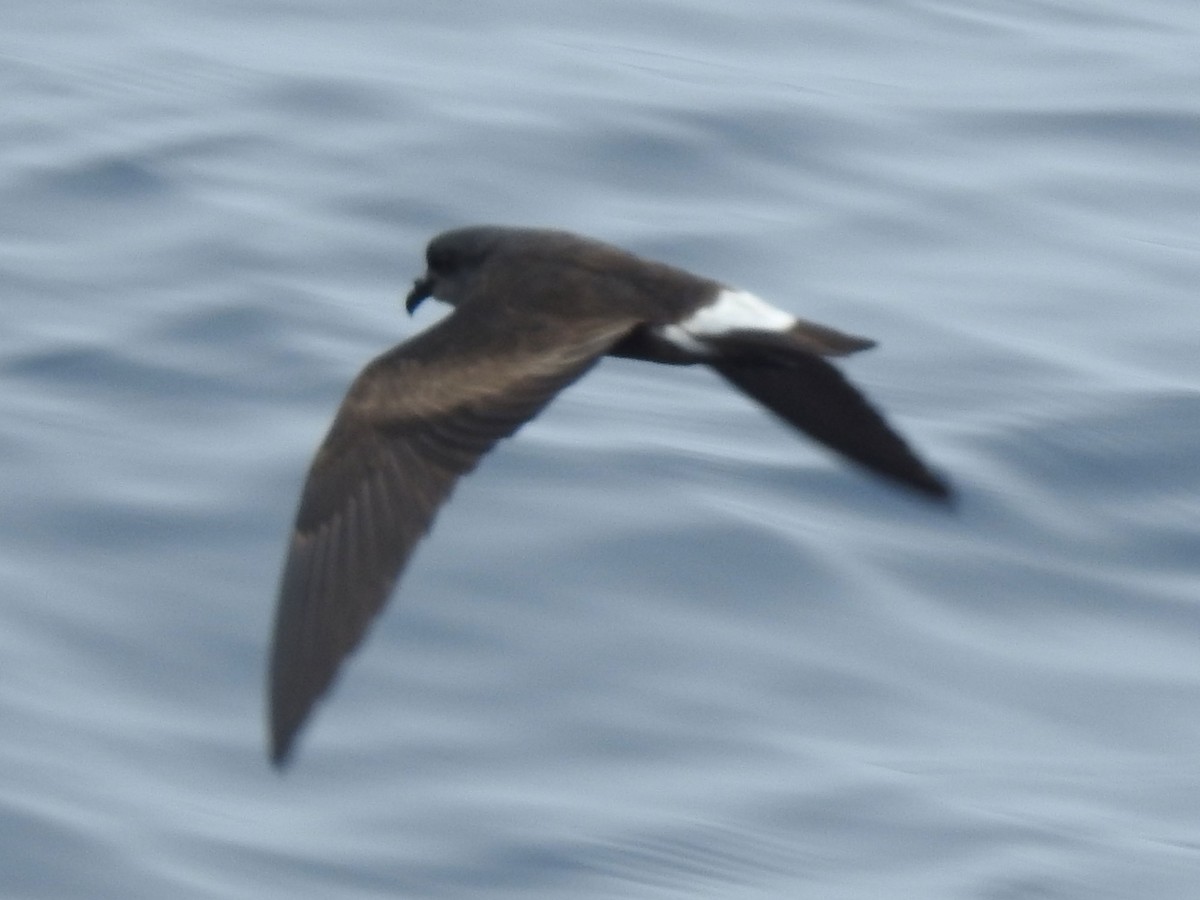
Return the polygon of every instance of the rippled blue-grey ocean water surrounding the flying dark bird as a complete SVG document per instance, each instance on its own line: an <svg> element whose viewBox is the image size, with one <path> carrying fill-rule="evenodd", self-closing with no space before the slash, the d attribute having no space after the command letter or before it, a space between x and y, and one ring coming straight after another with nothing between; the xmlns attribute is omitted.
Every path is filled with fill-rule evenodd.
<svg viewBox="0 0 1200 900"><path fill-rule="evenodd" d="M1200 896L1193 0L0 20L0 895ZM281 775L300 482L472 222L878 340L959 504L607 361Z"/></svg>

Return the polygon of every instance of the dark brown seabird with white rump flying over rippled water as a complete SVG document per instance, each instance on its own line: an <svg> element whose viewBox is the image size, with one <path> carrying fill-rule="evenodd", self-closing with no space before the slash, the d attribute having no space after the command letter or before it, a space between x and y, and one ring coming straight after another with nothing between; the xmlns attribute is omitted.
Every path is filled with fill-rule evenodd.
<svg viewBox="0 0 1200 900"><path fill-rule="evenodd" d="M409 313L430 296L454 311L355 378L300 497L269 672L276 766L458 478L604 356L710 366L866 470L950 497L826 359L874 341L566 232L461 228L425 256Z"/></svg>

